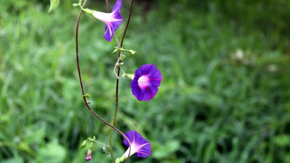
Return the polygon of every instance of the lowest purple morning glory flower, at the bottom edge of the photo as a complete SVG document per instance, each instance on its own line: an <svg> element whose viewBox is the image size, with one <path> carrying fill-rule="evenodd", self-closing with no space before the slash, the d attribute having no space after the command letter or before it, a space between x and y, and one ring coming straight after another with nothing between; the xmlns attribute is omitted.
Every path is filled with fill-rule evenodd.
<svg viewBox="0 0 290 163"><path fill-rule="evenodd" d="M142 137L137 131L129 131L126 134L131 144L130 156L136 153L138 157L147 157L151 154L151 143ZM129 147L127 140L124 138L124 144ZM129 148L125 152L124 156L128 157Z"/></svg>

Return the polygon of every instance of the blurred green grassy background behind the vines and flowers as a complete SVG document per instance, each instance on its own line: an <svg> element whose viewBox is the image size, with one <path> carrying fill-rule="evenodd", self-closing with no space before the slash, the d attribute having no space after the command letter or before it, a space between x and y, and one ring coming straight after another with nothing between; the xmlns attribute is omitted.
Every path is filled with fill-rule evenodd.
<svg viewBox="0 0 290 163"><path fill-rule="evenodd" d="M0 2L0 162L79 163L80 145L96 136L108 143L110 128L81 97L75 24L79 8L61 0ZM115 1L110 2L110 10ZM105 0L89 0L106 12ZM130 1L123 0L124 22ZM121 79L116 127L136 130L152 144L146 163L290 162L290 1L136 0L122 66L160 69L158 94L139 102ZM104 23L83 14L79 52L90 106L112 123L117 55L103 39ZM125 53L124 53L125 54ZM113 134L114 157L126 147ZM110 162L95 145L91 162Z"/></svg>

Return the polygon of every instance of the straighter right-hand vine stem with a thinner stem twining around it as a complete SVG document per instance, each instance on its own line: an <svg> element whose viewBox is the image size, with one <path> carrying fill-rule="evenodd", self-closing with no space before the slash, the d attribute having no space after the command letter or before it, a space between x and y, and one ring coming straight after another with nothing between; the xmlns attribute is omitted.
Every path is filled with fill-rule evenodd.
<svg viewBox="0 0 290 163"><path fill-rule="evenodd" d="M128 29L128 26L129 26L129 22L130 22L130 19L131 19L131 13L132 13L132 8L133 8L133 2L134 0L131 1L131 7L130 7L130 11L129 11L129 16L128 16L128 21L127 21L127 24L126 24L126 27L125 27L125 30L124 30L124 33L123 33L123 37L122 37L122 41L121 41L121 44L119 44L119 41L117 39L117 36L114 32L114 36L115 36L115 39L117 41L117 44L120 48L122 48L123 46L123 41L124 41L124 38L125 38L125 35L126 35L126 31ZM106 0L106 6L107 6L107 12L109 13L109 5L108 5L108 0ZM116 118L117 118L117 112L118 112L118 87L119 87L119 75L120 75L120 65L118 65L121 61L121 56L122 56L122 51L120 51L119 53L119 57L118 57L118 61L116 62L115 64L115 67L114 67L114 73L115 75L117 76L117 81L116 81L116 107L115 107L115 114L114 114L114 121L113 121L113 126L115 126L116 124ZM116 74L116 67L118 65L118 74ZM122 68L121 68L122 69ZM109 145L110 145L110 154L111 154L111 159L112 159L112 163L114 163L114 157L113 157L113 149L112 149L112 134L113 134L113 130L111 131L110 133L110 138L109 138ZM129 144L130 145L130 144ZM129 156L130 156L130 152L131 152L131 145L129 146ZM127 157L126 161L128 160L129 157Z"/></svg>

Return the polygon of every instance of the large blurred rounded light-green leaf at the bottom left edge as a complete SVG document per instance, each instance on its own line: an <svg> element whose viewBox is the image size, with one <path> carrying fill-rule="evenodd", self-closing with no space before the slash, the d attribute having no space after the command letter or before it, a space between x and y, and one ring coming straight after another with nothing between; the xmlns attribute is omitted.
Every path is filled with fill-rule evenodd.
<svg viewBox="0 0 290 163"><path fill-rule="evenodd" d="M66 151L60 144L48 143L44 148L39 149L38 155L44 163L62 163L66 157Z"/></svg>

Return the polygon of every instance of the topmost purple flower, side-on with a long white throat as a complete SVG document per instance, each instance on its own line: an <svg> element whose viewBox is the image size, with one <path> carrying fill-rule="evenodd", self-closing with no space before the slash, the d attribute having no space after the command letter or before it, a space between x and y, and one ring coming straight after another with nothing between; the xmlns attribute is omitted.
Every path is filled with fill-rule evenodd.
<svg viewBox="0 0 290 163"><path fill-rule="evenodd" d="M92 13L93 17L101 20L102 22L106 24L104 38L109 42L112 41L114 31L117 30L117 28L123 21L123 17L121 16L121 13L120 13L121 7L122 7L122 0L117 0L116 4L113 7L113 11L111 13L104 13L104 12L98 12L98 11L94 11Z"/></svg>

